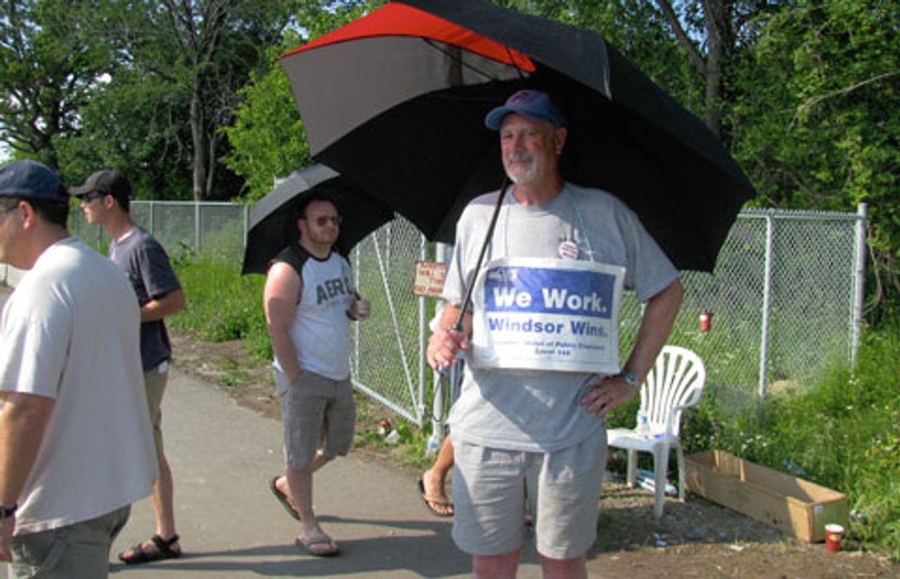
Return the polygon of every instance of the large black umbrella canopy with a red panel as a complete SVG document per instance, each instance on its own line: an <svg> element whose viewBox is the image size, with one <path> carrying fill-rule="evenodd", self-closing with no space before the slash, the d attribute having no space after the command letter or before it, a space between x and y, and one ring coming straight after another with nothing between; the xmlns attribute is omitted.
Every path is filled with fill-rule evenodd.
<svg viewBox="0 0 900 579"><path fill-rule="evenodd" d="M680 269L711 271L755 192L706 126L596 31L482 0L403 0L281 59L311 153L432 239L497 189L484 115L521 88L563 110L563 177L635 210Z"/></svg>

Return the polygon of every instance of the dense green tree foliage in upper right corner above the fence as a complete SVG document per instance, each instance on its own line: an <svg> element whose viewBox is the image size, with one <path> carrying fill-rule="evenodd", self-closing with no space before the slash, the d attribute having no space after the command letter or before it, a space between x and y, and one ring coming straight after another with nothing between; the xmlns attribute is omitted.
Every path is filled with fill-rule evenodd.
<svg viewBox="0 0 900 579"><path fill-rule="evenodd" d="M754 24L760 38L734 79L734 155L763 205L869 203L869 306L896 313L900 5L803 0Z"/></svg>

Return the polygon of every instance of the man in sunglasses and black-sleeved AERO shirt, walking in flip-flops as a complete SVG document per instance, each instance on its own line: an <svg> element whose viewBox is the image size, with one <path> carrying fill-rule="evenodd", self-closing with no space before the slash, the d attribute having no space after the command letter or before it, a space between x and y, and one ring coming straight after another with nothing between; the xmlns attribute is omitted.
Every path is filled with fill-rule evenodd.
<svg viewBox="0 0 900 579"><path fill-rule="evenodd" d="M295 545L316 557L338 554L312 510L312 475L347 454L356 425L350 382L350 320L369 305L353 287L347 259L334 250L338 208L312 193L297 218L300 240L275 256L266 275L263 306L275 351L275 387L284 423L284 476L270 487L301 521Z"/></svg>

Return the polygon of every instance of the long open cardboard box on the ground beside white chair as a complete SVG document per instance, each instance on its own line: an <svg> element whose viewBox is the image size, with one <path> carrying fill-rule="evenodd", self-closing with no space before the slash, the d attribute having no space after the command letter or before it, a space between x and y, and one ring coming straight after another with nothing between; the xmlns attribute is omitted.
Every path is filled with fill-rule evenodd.
<svg viewBox="0 0 900 579"><path fill-rule="evenodd" d="M766 522L811 543L824 541L825 525L847 526L847 497L802 478L755 465L722 450L685 458L691 493Z"/></svg>

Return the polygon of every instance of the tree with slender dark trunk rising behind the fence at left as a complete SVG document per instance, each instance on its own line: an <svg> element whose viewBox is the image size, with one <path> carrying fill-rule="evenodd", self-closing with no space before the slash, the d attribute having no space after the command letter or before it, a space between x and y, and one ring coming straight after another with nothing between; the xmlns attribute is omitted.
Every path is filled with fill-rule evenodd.
<svg viewBox="0 0 900 579"><path fill-rule="evenodd" d="M227 151L221 127L229 125L239 90L265 66L266 48L277 42L293 0L131 0L110 20L108 37L129 78L156 92L165 87L182 99L185 115L164 107L157 124L186 129L177 142L190 158L193 199L210 198L220 158ZM186 123L184 122L186 120ZM224 150L223 150L224 149Z"/></svg>

